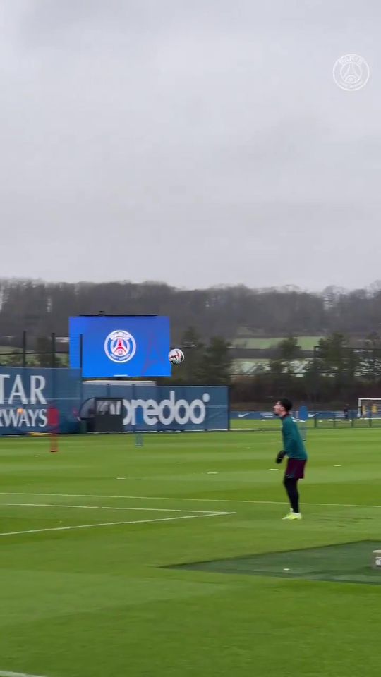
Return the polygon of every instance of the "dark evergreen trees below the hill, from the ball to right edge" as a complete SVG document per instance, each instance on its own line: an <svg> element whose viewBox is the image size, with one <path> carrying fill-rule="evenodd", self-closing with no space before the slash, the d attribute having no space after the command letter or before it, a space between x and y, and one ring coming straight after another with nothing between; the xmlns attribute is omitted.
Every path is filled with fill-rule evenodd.
<svg viewBox="0 0 381 677"><path fill-rule="evenodd" d="M262 374L231 377L231 350L222 338L205 346L194 329L183 334L186 360L174 370L176 384L230 384L234 408L271 408L274 400L289 396L313 408L356 408L359 397L381 397L381 337L370 334L361 348L352 348L339 332L318 342L301 374L301 348L295 336L279 341Z"/></svg>

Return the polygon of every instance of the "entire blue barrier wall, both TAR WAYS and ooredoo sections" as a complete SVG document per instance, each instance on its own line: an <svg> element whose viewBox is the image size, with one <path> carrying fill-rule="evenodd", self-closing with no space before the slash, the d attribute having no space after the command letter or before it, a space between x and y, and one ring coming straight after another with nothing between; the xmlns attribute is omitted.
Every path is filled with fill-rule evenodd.
<svg viewBox="0 0 381 677"><path fill-rule="evenodd" d="M80 370L0 367L0 435L50 432L49 407L59 410L59 432L79 432L96 397L123 400L126 432L229 428L225 386L87 383Z"/></svg>

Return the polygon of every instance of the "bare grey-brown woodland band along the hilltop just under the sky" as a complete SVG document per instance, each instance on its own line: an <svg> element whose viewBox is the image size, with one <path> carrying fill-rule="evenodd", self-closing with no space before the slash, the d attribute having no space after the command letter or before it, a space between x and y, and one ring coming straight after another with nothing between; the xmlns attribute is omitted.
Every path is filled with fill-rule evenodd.
<svg viewBox="0 0 381 677"><path fill-rule="evenodd" d="M70 315L169 315L172 338L186 327L203 339L231 340L238 327L258 336L370 334L381 327L381 284L368 290L328 287L321 294L296 288L255 290L245 286L184 290L164 283L45 283L0 280L1 334L67 336Z"/></svg>

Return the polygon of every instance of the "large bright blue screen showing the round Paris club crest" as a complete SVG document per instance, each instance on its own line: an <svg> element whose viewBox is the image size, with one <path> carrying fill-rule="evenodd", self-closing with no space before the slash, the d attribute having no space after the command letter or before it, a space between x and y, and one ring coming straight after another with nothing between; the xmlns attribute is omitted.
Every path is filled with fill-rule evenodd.
<svg viewBox="0 0 381 677"><path fill-rule="evenodd" d="M70 317L69 337L70 365L84 378L171 375L169 317Z"/></svg>

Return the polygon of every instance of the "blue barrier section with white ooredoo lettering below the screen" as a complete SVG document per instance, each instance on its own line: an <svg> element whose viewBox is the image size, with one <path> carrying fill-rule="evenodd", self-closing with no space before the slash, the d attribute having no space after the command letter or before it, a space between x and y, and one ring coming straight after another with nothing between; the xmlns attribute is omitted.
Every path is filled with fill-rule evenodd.
<svg viewBox="0 0 381 677"><path fill-rule="evenodd" d="M127 432L229 428L226 386L128 386L84 382L82 417L92 408L96 397L123 400L123 425Z"/></svg>

